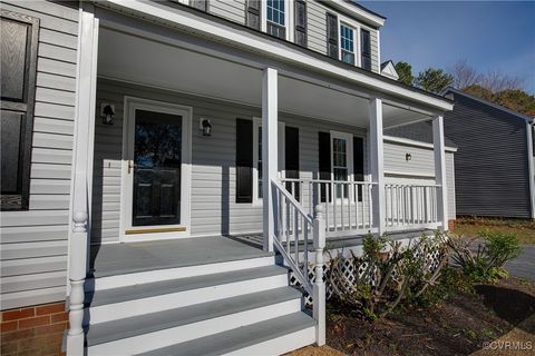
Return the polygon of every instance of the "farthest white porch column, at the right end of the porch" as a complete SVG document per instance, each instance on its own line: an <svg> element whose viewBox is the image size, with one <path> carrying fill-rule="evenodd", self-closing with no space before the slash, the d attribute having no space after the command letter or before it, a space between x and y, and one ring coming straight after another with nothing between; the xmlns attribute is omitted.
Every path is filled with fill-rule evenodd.
<svg viewBox="0 0 535 356"><path fill-rule="evenodd" d="M435 179L440 186L437 197L438 219L441 229L448 230L448 187L446 180L446 151L444 144L444 117L432 119L432 145L435 151Z"/></svg>

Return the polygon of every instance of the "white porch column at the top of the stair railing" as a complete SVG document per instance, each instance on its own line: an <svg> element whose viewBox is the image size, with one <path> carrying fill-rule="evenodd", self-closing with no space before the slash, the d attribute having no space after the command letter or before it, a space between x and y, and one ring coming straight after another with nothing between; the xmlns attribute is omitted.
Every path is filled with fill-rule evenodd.
<svg viewBox="0 0 535 356"><path fill-rule="evenodd" d="M275 196L272 180L276 180L279 169L278 120L279 88L276 69L264 69L262 77L262 187L263 187L263 234L264 250L273 251L275 235Z"/></svg>

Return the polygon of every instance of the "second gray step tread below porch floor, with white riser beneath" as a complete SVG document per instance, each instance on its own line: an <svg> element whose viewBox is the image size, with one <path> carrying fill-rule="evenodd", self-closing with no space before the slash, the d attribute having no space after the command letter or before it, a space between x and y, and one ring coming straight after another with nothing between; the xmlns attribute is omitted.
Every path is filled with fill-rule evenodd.
<svg viewBox="0 0 535 356"><path fill-rule="evenodd" d="M301 299L300 291L286 286L91 324L86 334L88 355L133 355L186 343L301 313Z"/></svg>

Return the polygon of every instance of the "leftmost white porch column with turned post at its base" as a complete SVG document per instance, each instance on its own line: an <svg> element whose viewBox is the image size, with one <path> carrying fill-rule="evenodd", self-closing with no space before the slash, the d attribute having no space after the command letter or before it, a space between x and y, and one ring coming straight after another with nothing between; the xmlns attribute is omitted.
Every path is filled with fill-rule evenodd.
<svg viewBox="0 0 535 356"><path fill-rule="evenodd" d="M94 7L84 6L79 18L77 105L74 145L72 233L69 241L69 330L67 355L84 355L84 283L87 274L89 172L93 167L98 20ZM88 172L89 171L89 172Z"/></svg>

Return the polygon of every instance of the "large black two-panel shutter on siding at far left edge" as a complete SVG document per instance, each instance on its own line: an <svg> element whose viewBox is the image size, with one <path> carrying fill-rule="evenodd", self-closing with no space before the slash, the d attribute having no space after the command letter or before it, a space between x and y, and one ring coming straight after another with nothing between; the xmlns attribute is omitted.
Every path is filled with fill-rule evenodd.
<svg viewBox="0 0 535 356"><path fill-rule="evenodd" d="M1 10L1 210L28 209L39 19Z"/></svg>

